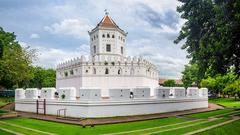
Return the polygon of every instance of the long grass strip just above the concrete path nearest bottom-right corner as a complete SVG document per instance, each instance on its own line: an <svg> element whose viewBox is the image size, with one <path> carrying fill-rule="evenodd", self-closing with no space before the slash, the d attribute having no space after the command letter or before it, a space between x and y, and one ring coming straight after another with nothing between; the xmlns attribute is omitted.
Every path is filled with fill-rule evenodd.
<svg viewBox="0 0 240 135"><path fill-rule="evenodd" d="M182 126L182 127L176 127L176 129L174 130L169 130L169 131L155 131L155 132L152 132L152 133L149 133L149 134L144 134L144 135L157 135L157 134L161 134L161 135L180 135L180 134L185 134L185 133L188 133L188 132L192 132L192 131L195 131L195 130L198 130L198 129L202 129L202 128L205 128L205 127L208 127L208 126L211 126L211 125L215 125L215 124L218 124L218 123L222 123L222 122L225 122L229 119L226 119L226 118L218 118L218 119L215 119L215 120L211 120L211 121L202 121L202 122L199 122L199 123L195 123L195 124L192 124L192 125L188 125L188 126Z"/></svg>

